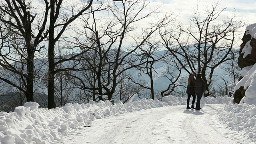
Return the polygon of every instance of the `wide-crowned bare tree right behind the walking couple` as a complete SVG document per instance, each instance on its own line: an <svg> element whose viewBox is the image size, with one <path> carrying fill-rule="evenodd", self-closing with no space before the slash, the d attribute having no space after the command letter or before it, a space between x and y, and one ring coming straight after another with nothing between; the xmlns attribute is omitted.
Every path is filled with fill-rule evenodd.
<svg viewBox="0 0 256 144"><path fill-rule="evenodd" d="M232 17L218 22L217 19L225 10L220 10L219 4L214 2L206 6L204 12L196 8L187 28L178 26L176 32L161 32L165 48L176 57L180 66L188 73L202 73L206 82L205 96L210 95L208 92L214 69L233 58L235 36L238 29L244 26L242 20L236 19L236 12Z"/></svg>

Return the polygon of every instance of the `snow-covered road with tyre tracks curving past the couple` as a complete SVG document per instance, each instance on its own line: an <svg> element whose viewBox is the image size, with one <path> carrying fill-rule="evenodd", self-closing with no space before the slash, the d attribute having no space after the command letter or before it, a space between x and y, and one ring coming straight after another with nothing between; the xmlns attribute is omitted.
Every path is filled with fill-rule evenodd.
<svg viewBox="0 0 256 144"><path fill-rule="evenodd" d="M202 110L165 106L97 119L64 144L237 144L243 143L216 120L224 104Z"/></svg>

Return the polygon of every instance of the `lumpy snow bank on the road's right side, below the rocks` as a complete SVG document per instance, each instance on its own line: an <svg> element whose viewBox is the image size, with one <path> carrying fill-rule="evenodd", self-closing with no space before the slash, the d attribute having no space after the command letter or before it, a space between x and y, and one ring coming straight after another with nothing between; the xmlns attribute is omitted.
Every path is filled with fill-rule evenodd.
<svg viewBox="0 0 256 144"><path fill-rule="evenodd" d="M249 104L228 104L218 114L220 122L237 130L244 138L256 138L256 107Z"/></svg>

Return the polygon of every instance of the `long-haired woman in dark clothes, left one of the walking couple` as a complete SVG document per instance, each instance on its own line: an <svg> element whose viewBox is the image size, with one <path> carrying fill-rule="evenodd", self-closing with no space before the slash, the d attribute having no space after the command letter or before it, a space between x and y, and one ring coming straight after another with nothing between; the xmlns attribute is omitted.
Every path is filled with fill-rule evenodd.
<svg viewBox="0 0 256 144"><path fill-rule="evenodd" d="M189 74L189 77L188 77L188 86L187 86L187 91L186 93L188 94L188 99L187 99L187 109L195 109L194 108L194 104L195 104L195 101L196 101L196 93L195 93L195 78L194 78L194 74ZM189 107L189 101L190 101L190 97L193 97L193 100L192 100L192 105L191 105L191 108Z"/></svg>

